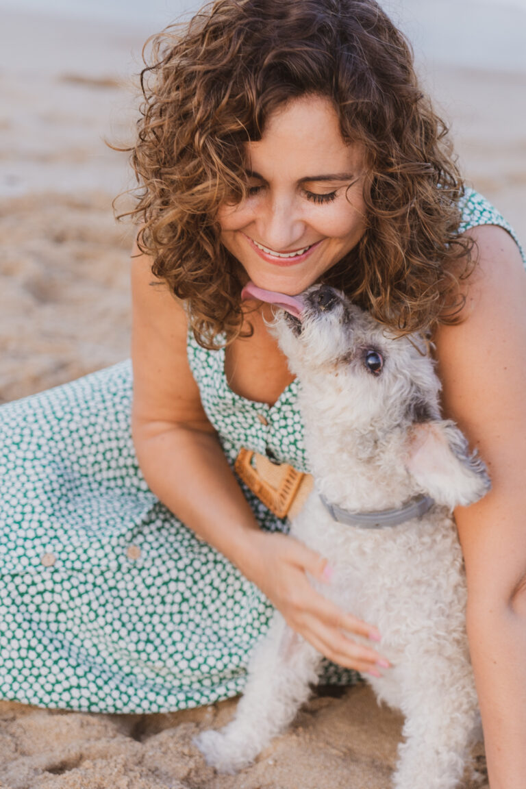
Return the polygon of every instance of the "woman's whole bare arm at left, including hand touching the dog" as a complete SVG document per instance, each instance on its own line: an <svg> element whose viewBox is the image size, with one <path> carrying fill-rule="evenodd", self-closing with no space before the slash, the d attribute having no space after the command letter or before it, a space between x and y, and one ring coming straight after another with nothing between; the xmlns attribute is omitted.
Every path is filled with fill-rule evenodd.
<svg viewBox="0 0 526 789"><path fill-rule="evenodd" d="M207 420L186 355L184 309L166 286L151 286L151 261L132 258L132 432L151 490L197 535L226 555L282 611L294 630L341 665L375 671L380 656L342 630L374 628L311 587L326 560L281 533L259 529Z"/></svg>

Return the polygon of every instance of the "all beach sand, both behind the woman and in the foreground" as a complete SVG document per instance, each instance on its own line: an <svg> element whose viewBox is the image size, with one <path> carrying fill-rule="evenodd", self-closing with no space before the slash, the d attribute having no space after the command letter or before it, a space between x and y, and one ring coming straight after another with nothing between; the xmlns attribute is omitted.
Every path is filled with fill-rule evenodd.
<svg viewBox="0 0 526 789"><path fill-rule="evenodd" d="M134 99L123 72L140 37L94 26L88 53L85 24L54 21L51 30L40 21L27 33L22 67L13 41L23 23L13 14L0 33L5 54L0 88L9 107L0 123L2 401L71 380L129 353L132 229L117 225L111 211L114 194L126 183L125 157L105 148L101 137L108 132L124 136L129 129ZM52 43L57 28L69 49L43 62L40 39ZM518 99L524 96L526 76L437 67L427 83L453 124L468 180L526 240L526 107ZM191 740L200 728L226 722L235 704L114 716L0 701L0 787L388 785L401 717L379 708L366 686L341 693L322 689L255 765L235 777L217 776ZM481 745L476 761L484 775ZM487 787L484 778L471 783L466 777L464 789L476 785Z"/></svg>

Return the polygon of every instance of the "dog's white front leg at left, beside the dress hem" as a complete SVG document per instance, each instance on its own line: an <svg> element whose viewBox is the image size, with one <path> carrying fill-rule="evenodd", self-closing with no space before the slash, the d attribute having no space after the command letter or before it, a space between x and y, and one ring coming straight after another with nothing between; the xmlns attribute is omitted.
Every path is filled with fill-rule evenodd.
<svg viewBox="0 0 526 789"><path fill-rule="evenodd" d="M276 611L250 660L247 685L233 720L219 731L203 731L194 740L207 763L229 773L249 765L307 701L320 661L319 653Z"/></svg>

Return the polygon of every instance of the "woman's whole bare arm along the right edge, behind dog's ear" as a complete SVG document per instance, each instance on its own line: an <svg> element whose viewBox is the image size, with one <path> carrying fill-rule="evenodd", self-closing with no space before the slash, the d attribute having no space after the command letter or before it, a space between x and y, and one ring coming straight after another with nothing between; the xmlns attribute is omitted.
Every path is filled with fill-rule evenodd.
<svg viewBox="0 0 526 789"><path fill-rule="evenodd" d="M455 513L468 580L468 638L491 789L526 786L526 274L502 228L470 231L479 267L466 320L437 335L446 411L493 488Z"/></svg>

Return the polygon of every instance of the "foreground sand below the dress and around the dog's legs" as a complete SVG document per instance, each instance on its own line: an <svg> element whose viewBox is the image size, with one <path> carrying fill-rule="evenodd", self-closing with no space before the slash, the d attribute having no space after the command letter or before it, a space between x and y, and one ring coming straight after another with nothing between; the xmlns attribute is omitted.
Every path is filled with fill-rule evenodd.
<svg viewBox="0 0 526 789"><path fill-rule="evenodd" d="M323 694L323 689L321 690ZM218 776L192 746L219 727L236 700L155 715L62 712L0 702L0 787L6 789L387 789L401 718L376 705L366 686L341 698L317 695L289 731L237 776ZM482 746L479 778L487 789ZM470 771L471 772L471 771Z"/></svg>

